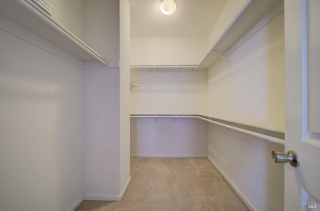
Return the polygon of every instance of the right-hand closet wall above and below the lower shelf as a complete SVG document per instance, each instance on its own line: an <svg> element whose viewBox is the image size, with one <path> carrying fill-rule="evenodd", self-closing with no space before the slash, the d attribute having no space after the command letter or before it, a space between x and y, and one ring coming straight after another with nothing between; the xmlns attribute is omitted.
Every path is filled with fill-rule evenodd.
<svg viewBox="0 0 320 211"><path fill-rule="evenodd" d="M225 61L208 69L208 113L216 118L284 131L283 12ZM246 37L249 34L245 35ZM208 159L256 211L283 210L284 169L271 151L282 145L208 123Z"/></svg>

